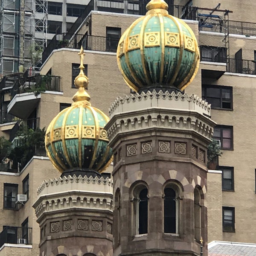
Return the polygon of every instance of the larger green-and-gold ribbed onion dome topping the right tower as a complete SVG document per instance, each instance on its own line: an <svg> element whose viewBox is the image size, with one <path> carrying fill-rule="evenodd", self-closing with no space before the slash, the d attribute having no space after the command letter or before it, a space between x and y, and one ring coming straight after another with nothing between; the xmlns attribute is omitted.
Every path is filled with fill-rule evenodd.
<svg viewBox="0 0 256 256"><path fill-rule="evenodd" d="M151 0L145 16L135 20L120 38L117 61L125 82L137 91L150 88L184 90L199 66L192 29L168 14L164 0Z"/></svg>

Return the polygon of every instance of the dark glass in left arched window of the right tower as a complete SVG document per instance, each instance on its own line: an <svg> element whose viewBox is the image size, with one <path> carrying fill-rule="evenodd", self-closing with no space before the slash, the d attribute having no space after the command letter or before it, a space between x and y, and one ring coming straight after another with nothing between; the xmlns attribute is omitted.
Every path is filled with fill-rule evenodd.
<svg viewBox="0 0 256 256"><path fill-rule="evenodd" d="M139 194L139 234L148 233L148 189L142 189Z"/></svg>

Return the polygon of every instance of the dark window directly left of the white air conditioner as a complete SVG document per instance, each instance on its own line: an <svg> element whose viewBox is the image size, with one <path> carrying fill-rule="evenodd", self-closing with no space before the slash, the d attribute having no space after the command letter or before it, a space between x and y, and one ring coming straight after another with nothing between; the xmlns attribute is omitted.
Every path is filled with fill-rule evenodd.
<svg viewBox="0 0 256 256"><path fill-rule="evenodd" d="M3 186L3 208L16 209L16 196L18 194L18 184L5 183Z"/></svg>

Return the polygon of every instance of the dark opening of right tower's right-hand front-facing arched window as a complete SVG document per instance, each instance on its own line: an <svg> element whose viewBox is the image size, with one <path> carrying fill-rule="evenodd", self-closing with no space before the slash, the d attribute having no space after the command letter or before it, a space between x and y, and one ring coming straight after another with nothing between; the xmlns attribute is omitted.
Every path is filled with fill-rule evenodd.
<svg viewBox="0 0 256 256"><path fill-rule="evenodd" d="M171 187L164 189L164 233L177 233L177 193Z"/></svg>

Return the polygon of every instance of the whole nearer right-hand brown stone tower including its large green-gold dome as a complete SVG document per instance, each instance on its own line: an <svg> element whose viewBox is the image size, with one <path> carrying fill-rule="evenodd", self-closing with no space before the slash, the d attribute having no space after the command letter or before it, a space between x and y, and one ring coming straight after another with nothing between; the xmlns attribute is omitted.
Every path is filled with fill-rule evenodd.
<svg viewBox="0 0 256 256"><path fill-rule="evenodd" d="M186 23L163 0L122 35L117 60L137 93L119 97L106 128L113 148L113 255L207 256L210 106L183 94L199 63Z"/></svg>

